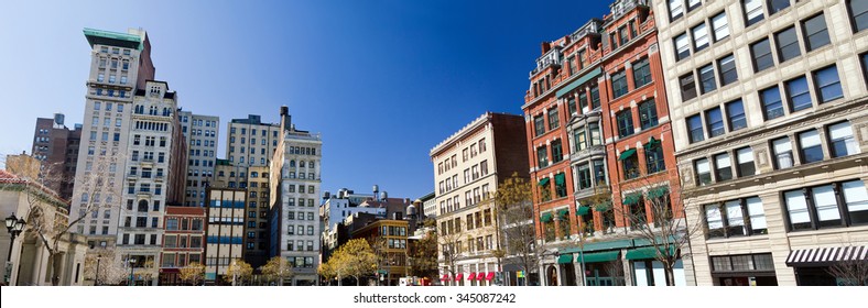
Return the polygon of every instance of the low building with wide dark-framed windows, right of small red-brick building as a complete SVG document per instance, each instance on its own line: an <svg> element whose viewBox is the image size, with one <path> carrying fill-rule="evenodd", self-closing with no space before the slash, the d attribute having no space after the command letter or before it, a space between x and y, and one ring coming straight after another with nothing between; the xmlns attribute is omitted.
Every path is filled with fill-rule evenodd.
<svg viewBox="0 0 868 308"><path fill-rule="evenodd" d="M205 284L225 285L226 270L243 258L247 190L208 187Z"/></svg>

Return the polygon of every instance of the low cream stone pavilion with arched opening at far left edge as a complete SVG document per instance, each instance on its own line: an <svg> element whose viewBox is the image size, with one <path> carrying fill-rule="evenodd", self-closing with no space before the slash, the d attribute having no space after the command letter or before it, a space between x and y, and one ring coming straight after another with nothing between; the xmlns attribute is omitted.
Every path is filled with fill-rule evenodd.
<svg viewBox="0 0 868 308"><path fill-rule="evenodd" d="M3 283L10 286L83 285L87 238L72 232L58 233L62 232L59 228L43 229L42 234L50 239L59 234L56 257L52 261L33 226L34 220L41 219L33 216L33 209L42 211L42 219L68 223L68 200L36 182L39 160L26 155L8 158L7 169L0 169L0 215L3 219L17 217L23 228L14 242L11 232L0 232L0 254L9 256Z"/></svg>

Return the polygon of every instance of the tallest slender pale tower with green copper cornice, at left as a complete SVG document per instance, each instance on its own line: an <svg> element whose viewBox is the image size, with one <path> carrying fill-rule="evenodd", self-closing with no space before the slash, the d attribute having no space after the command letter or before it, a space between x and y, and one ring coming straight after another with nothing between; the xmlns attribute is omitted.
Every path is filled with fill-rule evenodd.
<svg viewBox="0 0 868 308"><path fill-rule="evenodd" d="M141 30L127 33L85 29L91 47L84 125L78 147L70 213L95 215L74 228L88 240L112 245L119 234L131 143L132 100L154 78L151 43ZM165 153L169 154L169 153ZM96 197L100 198L96 198ZM93 198L91 198L93 197ZM97 208L95 213L89 209ZM120 255L119 255L120 256Z"/></svg>

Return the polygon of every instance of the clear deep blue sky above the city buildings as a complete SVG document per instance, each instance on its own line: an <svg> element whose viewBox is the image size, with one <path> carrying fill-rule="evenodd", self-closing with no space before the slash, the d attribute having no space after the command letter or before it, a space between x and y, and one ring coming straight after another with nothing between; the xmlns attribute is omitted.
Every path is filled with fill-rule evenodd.
<svg viewBox="0 0 868 308"><path fill-rule="evenodd" d="M148 31L156 79L184 110L323 133L323 190L417 198L428 152L486 111L521 113L540 43L610 1L3 1L0 153L30 152L37 117L80 123L83 28Z"/></svg>

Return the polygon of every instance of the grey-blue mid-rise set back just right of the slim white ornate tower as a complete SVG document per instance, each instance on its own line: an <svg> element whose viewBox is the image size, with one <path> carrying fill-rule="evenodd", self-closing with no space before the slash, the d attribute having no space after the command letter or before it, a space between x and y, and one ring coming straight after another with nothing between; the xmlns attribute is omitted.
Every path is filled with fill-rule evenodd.
<svg viewBox="0 0 868 308"><path fill-rule="evenodd" d="M220 118L178 111L181 131L187 142L186 207L205 206L205 188L214 182L215 152L220 140Z"/></svg>

